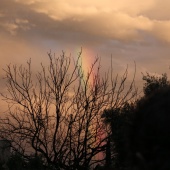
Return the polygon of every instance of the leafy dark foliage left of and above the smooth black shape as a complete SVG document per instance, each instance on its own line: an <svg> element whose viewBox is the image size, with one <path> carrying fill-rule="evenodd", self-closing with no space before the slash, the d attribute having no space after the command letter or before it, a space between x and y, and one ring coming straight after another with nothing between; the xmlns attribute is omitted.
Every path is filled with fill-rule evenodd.
<svg viewBox="0 0 170 170"><path fill-rule="evenodd" d="M170 86L166 74L152 76L146 73L146 75L143 74L143 80L145 83L143 87L144 96L142 98L105 110L102 115L105 123L109 124L111 129L109 137L111 142L111 162L116 169L128 168L129 166L129 130L134 121L137 105L152 93Z"/></svg>

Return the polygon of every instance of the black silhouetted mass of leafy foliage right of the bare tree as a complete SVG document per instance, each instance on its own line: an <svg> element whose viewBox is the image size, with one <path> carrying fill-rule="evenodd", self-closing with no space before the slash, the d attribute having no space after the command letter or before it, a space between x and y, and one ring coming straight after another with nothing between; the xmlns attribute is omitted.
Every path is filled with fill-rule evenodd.
<svg viewBox="0 0 170 170"><path fill-rule="evenodd" d="M143 80L143 97L103 114L112 131L112 169L170 168L170 82L166 74Z"/></svg>

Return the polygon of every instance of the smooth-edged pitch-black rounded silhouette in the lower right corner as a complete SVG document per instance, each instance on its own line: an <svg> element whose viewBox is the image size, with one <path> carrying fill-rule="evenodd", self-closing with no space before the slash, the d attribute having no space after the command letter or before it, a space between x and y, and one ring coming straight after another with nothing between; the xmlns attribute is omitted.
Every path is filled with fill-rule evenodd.
<svg viewBox="0 0 170 170"><path fill-rule="evenodd" d="M142 98L131 130L130 151L136 170L170 169L170 87Z"/></svg>

